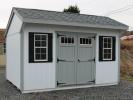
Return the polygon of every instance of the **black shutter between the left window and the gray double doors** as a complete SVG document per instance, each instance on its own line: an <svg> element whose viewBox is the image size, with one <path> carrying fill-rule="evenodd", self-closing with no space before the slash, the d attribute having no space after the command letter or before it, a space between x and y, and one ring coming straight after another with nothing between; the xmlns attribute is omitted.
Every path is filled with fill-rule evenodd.
<svg viewBox="0 0 133 100"><path fill-rule="evenodd" d="M48 33L48 62L53 60L53 35Z"/></svg>

